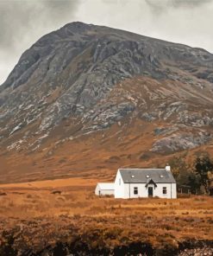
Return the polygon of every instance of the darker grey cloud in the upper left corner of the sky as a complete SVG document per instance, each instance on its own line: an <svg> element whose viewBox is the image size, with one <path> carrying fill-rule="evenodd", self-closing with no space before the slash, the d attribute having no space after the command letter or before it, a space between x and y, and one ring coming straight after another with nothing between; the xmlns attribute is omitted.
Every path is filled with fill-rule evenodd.
<svg viewBox="0 0 213 256"><path fill-rule="evenodd" d="M40 35L45 26L72 17L79 1L0 1L0 48L15 47L23 38Z"/></svg>

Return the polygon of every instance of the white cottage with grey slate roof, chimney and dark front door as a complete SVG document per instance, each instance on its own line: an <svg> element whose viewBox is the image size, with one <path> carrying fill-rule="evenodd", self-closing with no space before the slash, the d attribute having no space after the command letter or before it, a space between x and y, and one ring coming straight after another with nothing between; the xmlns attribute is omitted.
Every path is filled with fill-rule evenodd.
<svg viewBox="0 0 213 256"><path fill-rule="evenodd" d="M115 198L177 198L177 188L170 166L165 169L118 169Z"/></svg>

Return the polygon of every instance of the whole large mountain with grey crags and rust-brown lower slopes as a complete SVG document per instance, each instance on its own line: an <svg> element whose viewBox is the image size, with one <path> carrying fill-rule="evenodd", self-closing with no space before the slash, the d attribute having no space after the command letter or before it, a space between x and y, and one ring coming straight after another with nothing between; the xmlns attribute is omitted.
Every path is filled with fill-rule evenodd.
<svg viewBox="0 0 213 256"><path fill-rule="evenodd" d="M0 181L113 179L120 166L211 150L213 54L72 22L0 86Z"/></svg>

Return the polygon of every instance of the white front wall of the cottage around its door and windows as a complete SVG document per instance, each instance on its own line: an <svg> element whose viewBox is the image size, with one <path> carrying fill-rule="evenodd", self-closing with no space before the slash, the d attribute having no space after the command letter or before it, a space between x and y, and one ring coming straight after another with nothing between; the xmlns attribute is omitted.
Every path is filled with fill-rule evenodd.
<svg viewBox="0 0 213 256"><path fill-rule="evenodd" d="M130 184L125 183L124 193L121 192L120 194L116 191L116 189L119 189L119 188L115 187L115 197L116 198L148 197L148 189L146 188L145 185L146 183L130 183ZM134 195L135 187L138 188L138 195ZM160 198L177 198L175 183L157 183L157 188L155 189L153 184L148 185L148 187L153 187L153 197L158 196ZM166 195L163 194L163 187L166 187Z"/></svg>

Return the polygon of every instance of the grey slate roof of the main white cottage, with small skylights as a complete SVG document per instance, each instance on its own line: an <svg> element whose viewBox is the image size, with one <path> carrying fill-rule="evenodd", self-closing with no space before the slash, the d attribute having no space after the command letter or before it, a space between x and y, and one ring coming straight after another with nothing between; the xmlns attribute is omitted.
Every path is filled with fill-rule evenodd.
<svg viewBox="0 0 213 256"><path fill-rule="evenodd" d="M171 170L166 169L118 169L124 183L176 183Z"/></svg>

